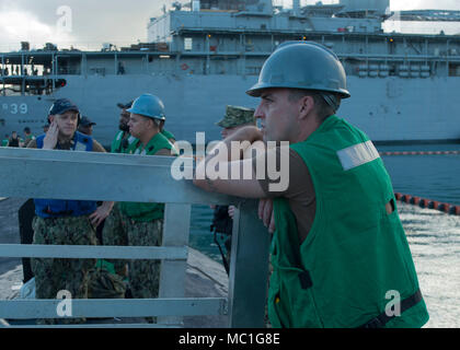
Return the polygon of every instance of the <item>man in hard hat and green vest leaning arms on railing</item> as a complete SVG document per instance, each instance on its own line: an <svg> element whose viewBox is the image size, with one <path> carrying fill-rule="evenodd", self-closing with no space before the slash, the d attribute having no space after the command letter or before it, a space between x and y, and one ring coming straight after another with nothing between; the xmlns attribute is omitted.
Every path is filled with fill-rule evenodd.
<svg viewBox="0 0 460 350"><path fill-rule="evenodd" d="M262 129L239 130L197 165L196 174L206 174L210 159L227 165L228 179L196 176L194 184L262 198L260 215L274 231L272 325L422 327L428 313L390 177L368 137L335 115L350 96L336 55L315 43L286 43L248 94L261 97L254 116ZM231 162L232 141L280 144L267 148L262 162L262 155ZM257 167L271 159L280 161L279 176L258 179ZM232 167L245 163L252 179L231 178Z"/></svg>

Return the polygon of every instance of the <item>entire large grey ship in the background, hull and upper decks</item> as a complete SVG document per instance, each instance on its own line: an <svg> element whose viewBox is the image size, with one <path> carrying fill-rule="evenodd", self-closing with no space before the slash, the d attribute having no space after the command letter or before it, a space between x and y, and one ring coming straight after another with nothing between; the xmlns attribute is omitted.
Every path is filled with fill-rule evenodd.
<svg viewBox="0 0 460 350"><path fill-rule="evenodd" d="M192 1L151 19L148 44L107 44L101 51L24 45L0 54L0 132L37 130L51 102L69 97L108 144L116 103L149 92L163 100L166 128L177 139L194 141L197 131L218 139L214 124L226 105L257 105L245 91L273 50L312 40L334 50L348 75L352 98L338 114L372 140L459 140L460 36L384 33L382 23L393 15L388 9L389 0L307 7L295 0L289 11L269 0ZM407 11L401 19L459 21L457 12Z"/></svg>

